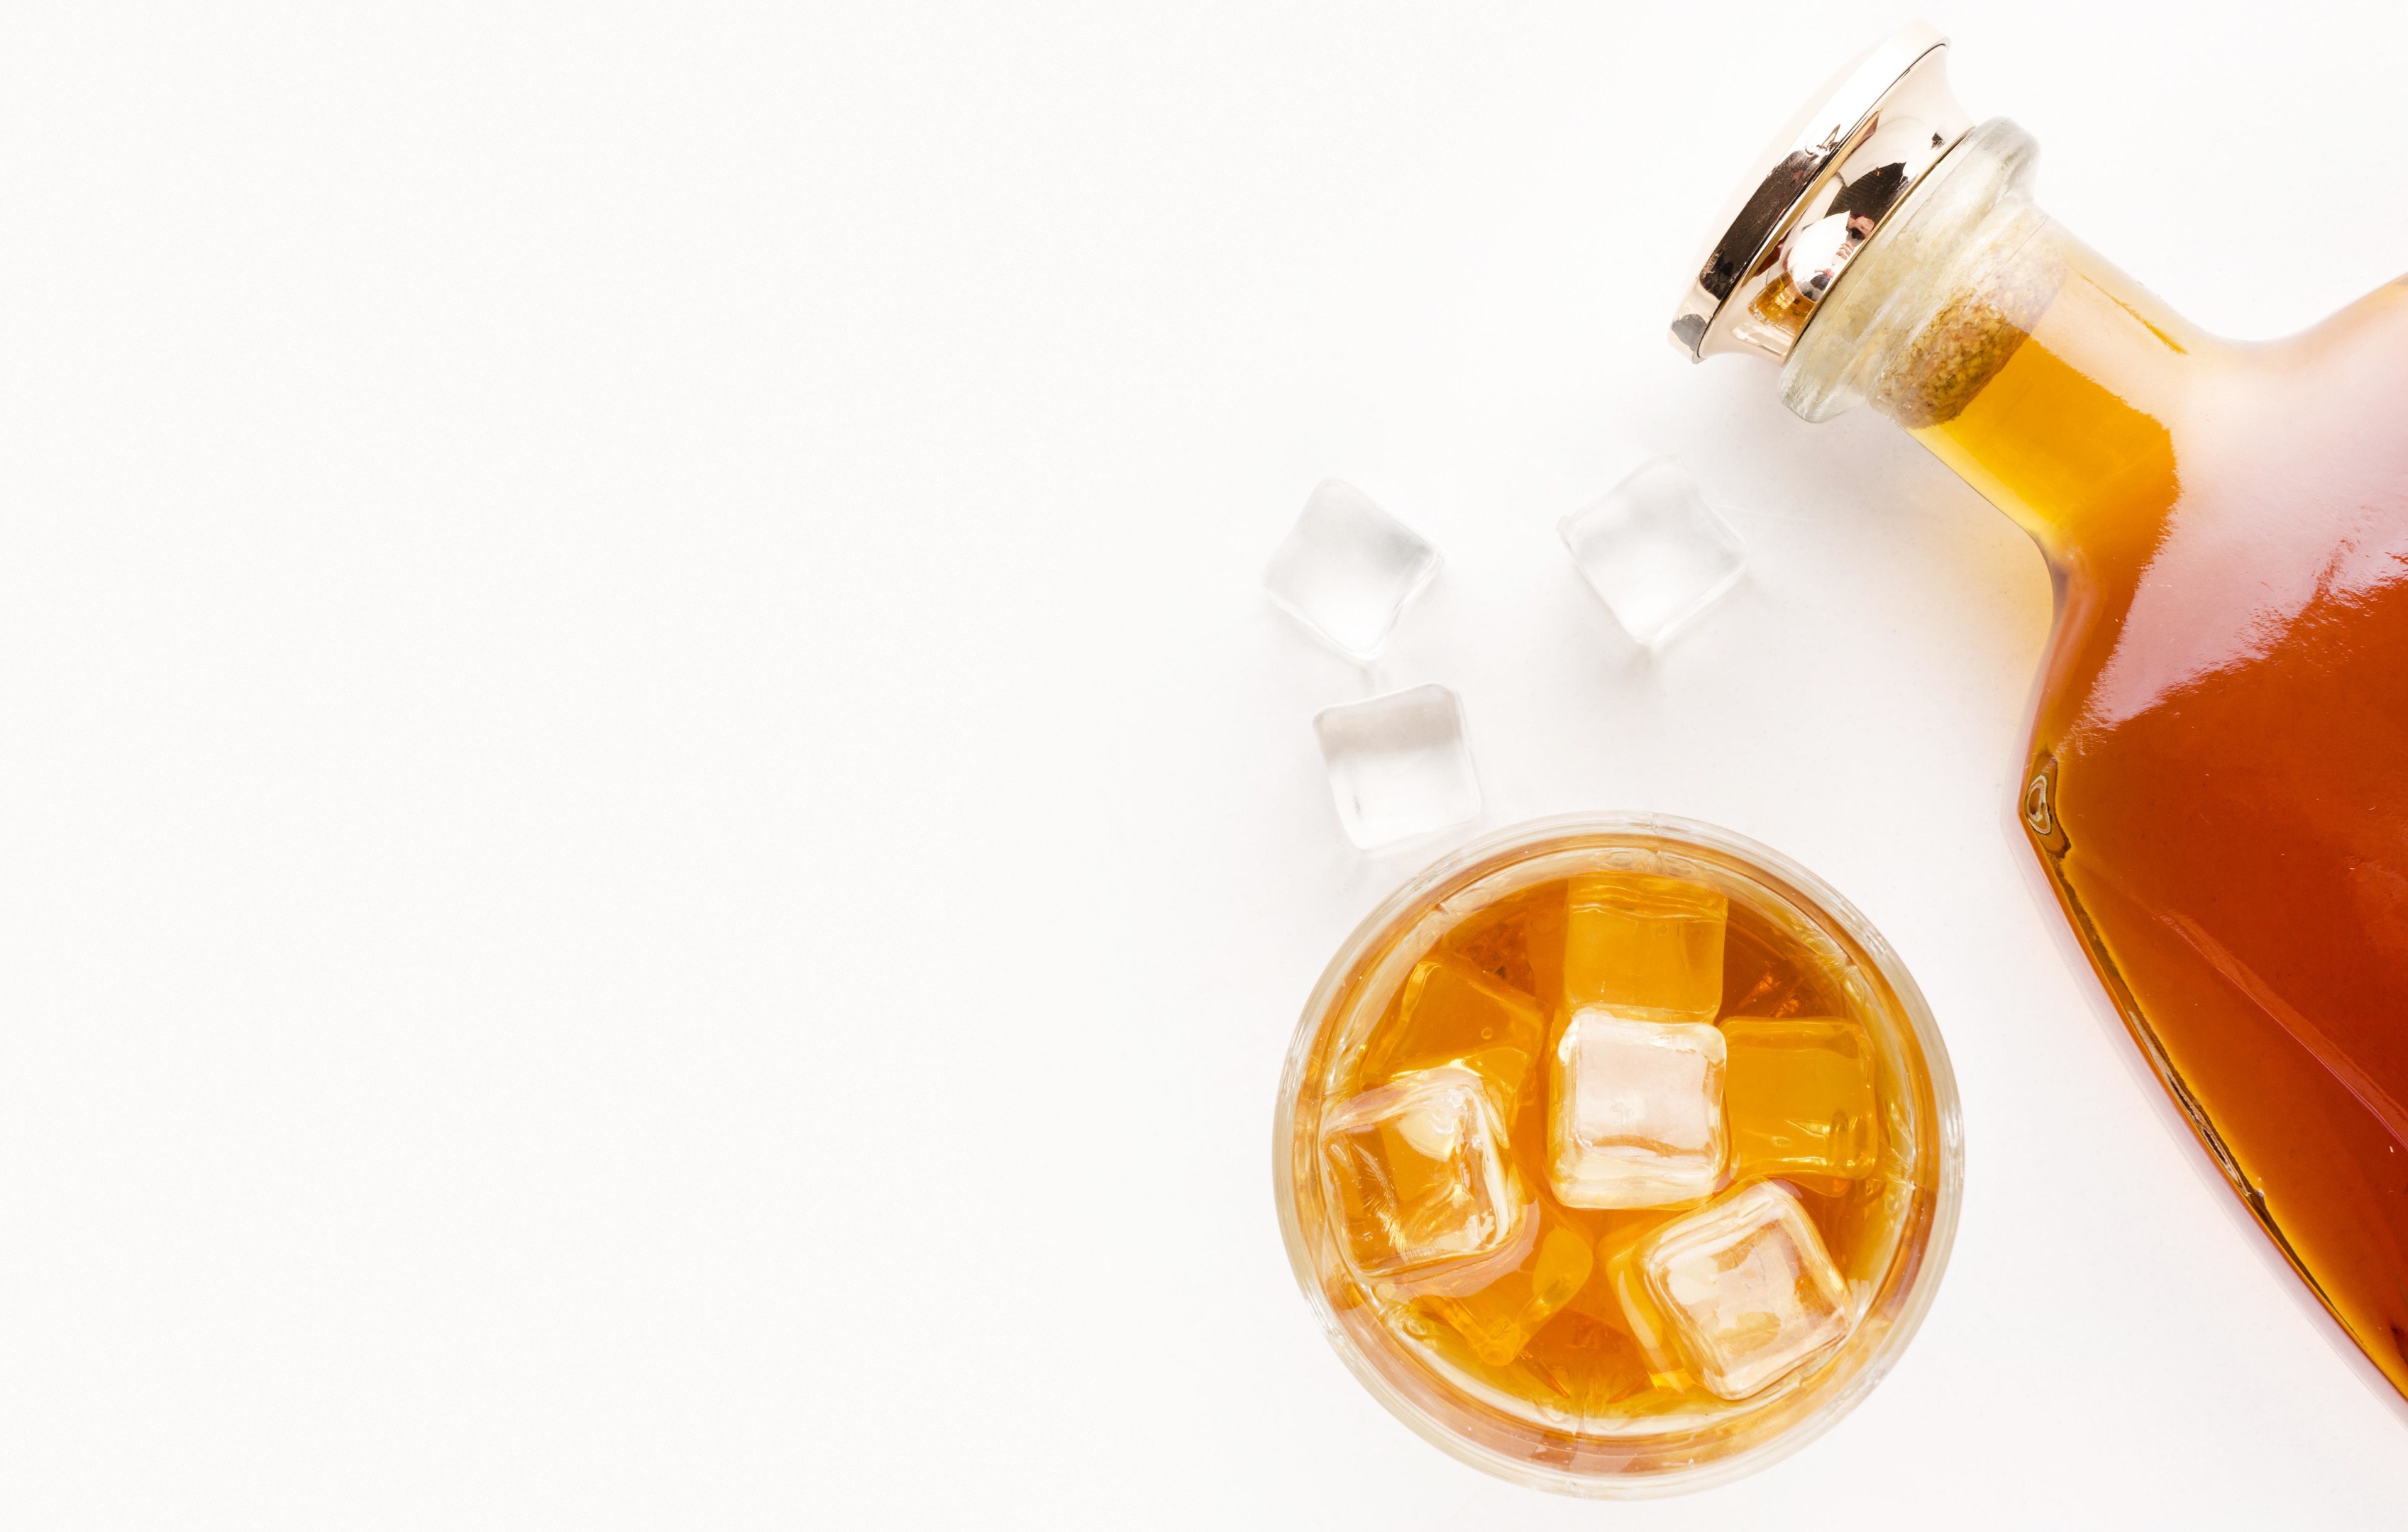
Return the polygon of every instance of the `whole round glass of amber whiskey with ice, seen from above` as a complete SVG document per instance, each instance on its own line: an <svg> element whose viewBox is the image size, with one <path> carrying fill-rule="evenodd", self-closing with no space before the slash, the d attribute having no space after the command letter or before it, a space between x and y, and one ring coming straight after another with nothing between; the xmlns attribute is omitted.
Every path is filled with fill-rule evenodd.
<svg viewBox="0 0 2408 1532"><path fill-rule="evenodd" d="M1423 1436L1575 1493L1837 1419L1929 1303L1958 1154L1895 954L1671 819L1527 826L1401 889L1308 1007L1279 1125L1341 1356Z"/></svg>

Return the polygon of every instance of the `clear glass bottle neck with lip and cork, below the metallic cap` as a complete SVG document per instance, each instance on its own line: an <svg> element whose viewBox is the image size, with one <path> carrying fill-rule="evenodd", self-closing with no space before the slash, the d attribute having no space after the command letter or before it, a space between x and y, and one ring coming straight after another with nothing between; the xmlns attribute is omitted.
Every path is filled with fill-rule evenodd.
<svg viewBox="0 0 2408 1532"><path fill-rule="evenodd" d="M1816 313L1782 395L1888 414L2066 568L2155 535L2165 422L2215 342L2032 205L2032 161L2013 123L1970 132Z"/></svg>

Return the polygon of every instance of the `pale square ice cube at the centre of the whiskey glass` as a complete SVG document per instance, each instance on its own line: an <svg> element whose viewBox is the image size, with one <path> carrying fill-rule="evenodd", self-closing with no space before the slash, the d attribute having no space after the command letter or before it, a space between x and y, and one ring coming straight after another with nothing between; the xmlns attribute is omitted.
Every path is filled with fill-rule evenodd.
<svg viewBox="0 0 2408 1532"><path fill-rule="evenodd" d="M1565 1207L1695 1202L1722 1183L1722 1033L1575 1012L1546 1094L1546 1173Z"/></svg>

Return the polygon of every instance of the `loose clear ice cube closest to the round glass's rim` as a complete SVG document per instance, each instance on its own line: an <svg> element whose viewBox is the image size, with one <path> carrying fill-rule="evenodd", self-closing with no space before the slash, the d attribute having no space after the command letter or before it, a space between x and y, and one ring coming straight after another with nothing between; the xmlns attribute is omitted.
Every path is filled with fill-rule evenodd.
<svg viewBox="0 0 2408 1532"><path fill-rule="evenodd" d="M1413 687L1322 708L1312 720L1346 838L1370 850L1479 819L1481 778L1464 742L1464 706L1445 687Z"/></svg>

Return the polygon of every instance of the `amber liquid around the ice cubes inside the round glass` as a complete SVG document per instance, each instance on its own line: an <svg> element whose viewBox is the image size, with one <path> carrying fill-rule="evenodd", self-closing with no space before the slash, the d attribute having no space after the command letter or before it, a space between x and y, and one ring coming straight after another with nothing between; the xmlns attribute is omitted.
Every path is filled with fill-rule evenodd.
<svg viewBox="0 0 2408 1532"><path fill-rule="evenodd" d="M1519 1185L1536 1200L1539 1238L1517 1267L1491 1272L1476 1291L1399 1296L1375 1281L1344 1281L1339 1306L1370 1306L1380 1325L1430 1361L1457 1390L1491 1395L1524 1407L1539 1421L1599 1431L1662 1416L1712 1416L1734 1404L1717 1397L1686 1368L1652 1368L1633 1337L1628 1301L1609 1267L1618 1250L1678 1216L1676 1209L1568 1207L1548 1185L1548 1057L1565 1029L1565 903L1568 882L1522 889L1469 913L1440 937L1423 966L1479 976L1495 985L1503 1004L1464 1007L1464 1021L1447 1031L1416 1024L1411 985L1389 997L1380 1019L1332 1082L1332 1098L1346 1101L1430 1062L1462 1057L1510 1089L1507 1156ZM1722 935L1722 990L1717 1026L1746 1050L1751 1036L1777 1036L1782 1026L1849 1029L1842 983L1792 932L1780 930L1741 901L1729 903ZM1517 1019L1519 1014L1519 1019ZM1801 1021L1789 1021L1801 1019ZM1421 1036L1409 1036L1421 1029ZM1529 1031L1517 1031L1529 1029ZM1765 1055L1755 1055L1763 1060ZM1758 1062L1729 1077L1729 1161L1717 1190L1775 1183L1804 1207L1832 1267L1845 1281L1878 1281L1900 1241L1905 1200L1895 1163L1881 1154L1883 1108L1873 1096L1859 1113L1842 1113L1830 1135L1830 1060L1811 1050L1794 1060ZM1857 1120L1847 1120L1857 1118ZM1816 1137L1801 1154L1799 1127ZM1845 1149L1830 1144L1845 1139ZM1789 1154L1767 1173L1763 1156ZM1796 1166L1825 1161L1837 1173L1801 1173ZM1348 1214L1341 1212L1341 1219ZM1361 1221L1361 1214L1353 1214ZM1368 1231L1341 1228L1341 1241ZM1816 1361L1804 1363L1811 1371Z"/></svg>

